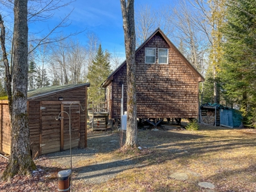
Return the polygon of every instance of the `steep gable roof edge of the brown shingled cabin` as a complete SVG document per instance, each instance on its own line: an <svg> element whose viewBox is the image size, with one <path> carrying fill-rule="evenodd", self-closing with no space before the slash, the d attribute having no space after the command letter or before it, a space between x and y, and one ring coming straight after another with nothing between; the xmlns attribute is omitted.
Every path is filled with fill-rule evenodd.
<svg viewBox="0 0 256 192"><path fill-rule="evenodd" d="M182 58L182 60L188 65L188 67L196 74L196 76L198 76L198 82L202 82L204 81L204 77L196 70L196 68L186 59L186 57L179 51L179 49L177 49L177 47L175 47L175 45L169 40L169 38L163 33L163 31L160 28L157 28L156 31L154 31L152 33L152 35L150 35L135 51L135 54L140 51L140 49L147 44L147 42L153 37L155 36L157 33L160 33L161 36L163 36L164 40L168 43L168 45L170 45L170 47L173 48L173 50L175 52L177 52L177 54L180 56L180 58ZM113 76L116 74L116 72L118 72L118 70L120 70L120 68L122 68L124 65L126 64L126 60L119 65L119 67L117 67L109 76L108 78L101 84L102 87L106 87L108 86L109 83L111 83L111 80L113 80Z"/></svg>

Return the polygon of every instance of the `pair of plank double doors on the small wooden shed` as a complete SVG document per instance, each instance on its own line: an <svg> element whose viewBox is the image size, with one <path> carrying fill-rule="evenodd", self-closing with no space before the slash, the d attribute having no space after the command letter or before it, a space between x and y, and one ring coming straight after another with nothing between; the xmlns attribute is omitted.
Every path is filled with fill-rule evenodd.
<svg viewBox="0 0 256 192"><path fill-rule="evenodd" d="M41 102L40 154L58 152L70 148L68 115L70 115L72 147L79 147L80 106L74 103L70 108L71 103L64 101ZM59 114L61 118L56 120Z"/></svg>

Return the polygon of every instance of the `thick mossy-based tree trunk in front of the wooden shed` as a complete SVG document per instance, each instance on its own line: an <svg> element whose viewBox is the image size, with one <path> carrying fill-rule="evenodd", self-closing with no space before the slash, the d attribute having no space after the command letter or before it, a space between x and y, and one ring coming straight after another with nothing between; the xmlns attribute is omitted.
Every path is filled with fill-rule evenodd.
<svg viewBox="0 0 256 192"><path fill-rule="evenodd" d="M3 179L16 174L25 175L35 170L30 156L27 112L28 92L28 0L14 1L14 57L13 57L13 110L12 145L8 166Z"/></svg>

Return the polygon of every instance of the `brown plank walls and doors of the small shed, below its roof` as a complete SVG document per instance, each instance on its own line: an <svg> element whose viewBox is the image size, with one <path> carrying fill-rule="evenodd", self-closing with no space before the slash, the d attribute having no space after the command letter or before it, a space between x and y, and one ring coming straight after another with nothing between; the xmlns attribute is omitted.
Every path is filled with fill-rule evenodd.
<svg viewBox="0 0 256 192"><path fill-rule="evenodd" d="M28 101L28 118L29 118L29 140L31 143L32 156L39 156L48 152L60 150L61 134L60 121L55 117L61 111L61 102L59 97L65 101L79 101L83 108L86 108L86 89L87 86L55 93ZM47 103L47 104L44 104ZM52 103L51 103L52 102ZM45 109L40 110L40 106ZM87 110L82 111L80 106L73 104L72 108L72 147L86 147L86 116ZM64 110L69 113L69 104L65 104ZM78 113L79 111L79 113ZM61 115L63 116L63 115ZM69 148L68 117L64 115L64 146ZM10 154L11 129L10 116L8 113L8 102L0 101L0 151ZM80 137L80 138L79 138ZM79 140L78 140L79 139ZM40 144L43 146L40 148ZM44 145L46 144L46 145Z"/></svg>

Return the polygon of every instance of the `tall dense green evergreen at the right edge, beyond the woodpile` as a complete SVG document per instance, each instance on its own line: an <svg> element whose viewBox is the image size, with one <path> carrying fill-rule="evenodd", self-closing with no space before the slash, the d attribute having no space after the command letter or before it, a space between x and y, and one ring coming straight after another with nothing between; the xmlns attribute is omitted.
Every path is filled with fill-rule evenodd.
<svg viewBox="0 0 256 192"><path fill-rule="evenodd" d="M256 4L229 0L223 27L221 78L226 97L239 105L244 124L256 127Z"/></svg>

